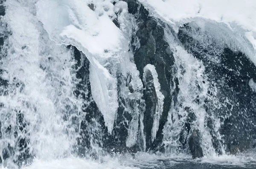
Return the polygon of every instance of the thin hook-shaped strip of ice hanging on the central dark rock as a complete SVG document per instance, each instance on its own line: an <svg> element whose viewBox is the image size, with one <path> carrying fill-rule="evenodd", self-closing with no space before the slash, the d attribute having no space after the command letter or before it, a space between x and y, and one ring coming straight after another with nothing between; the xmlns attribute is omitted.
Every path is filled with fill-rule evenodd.
<svg viewBox="0 0 256 169"><path fill-rule="evenodd" d="M152 141L154 141L154 139L156 138L157 135L157 130L159 127L159 121L161 118L161 115L163 113L163 99L164 96L163 94L160 92L161 87L160 87L160 83L158 82L158 74L157 71L154 67L154 65L148 64L144 67L144 73L143 73L143 81L145 81L145 73L147 71L150 71L152 76L153 76L153 83L154 83L154 87L155 87L155 91L157 93L157 105L156 105L156 112L154 114L154 122L153 122L153 127L152 127Z"/></svg>

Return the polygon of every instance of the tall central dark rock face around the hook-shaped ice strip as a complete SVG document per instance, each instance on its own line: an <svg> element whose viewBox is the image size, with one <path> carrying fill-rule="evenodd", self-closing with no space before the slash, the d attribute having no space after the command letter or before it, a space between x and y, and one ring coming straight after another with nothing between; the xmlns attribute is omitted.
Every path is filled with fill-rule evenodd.
<svg viewBox="0 0 256 169"><path fill-rule="evenodd" d="M140 71L140 78L142 79L143 68L145 65L154 65L158 73L161 93L165 96L163 114L160 119L156 140L151 143L151 141L148 140L151 134L148 134L146 141L147 149L155 149L162 141L162 130L166 123L171 104L170 83L172 79L172 65L174 64L174 58L172 52L169 50L169 44L164 40L164 25L162 25L159 20L149 17L148 11L142 4L137 3L136 0L125 0L125 2L128 4L128 12L134 15L139 26L138 31L132 37L133 42L131 44L134 44L136 39L138 39L140 43L139 48L133 46L134 62L137 69ZM151 94L152 93L154 92L151 91ZM148 96L145 97L148 98ZM154 98L154 96L152 95L151 98ZM153 108L156 100L149 99L148 101L149 102L145 101L147 110L144 114L145 117L150 116L148 115L148 110ZM154 101L153 104L152 101ZM151 118L145 118L143 123L146 126L144 132L149 133L152 127Z"/></svg>

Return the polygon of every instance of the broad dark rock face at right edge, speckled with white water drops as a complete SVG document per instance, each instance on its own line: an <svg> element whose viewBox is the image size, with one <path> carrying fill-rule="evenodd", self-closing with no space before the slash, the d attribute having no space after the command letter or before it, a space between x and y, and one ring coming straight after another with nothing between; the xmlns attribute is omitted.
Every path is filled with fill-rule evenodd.
<svg viewBox="0 0 256 169"><path fill-rule="evenodd" d="M217 88L218 105L207 103L207 113L213 113L221 119L221 134L224 135L227 151L236 153L250 148L256 138L256 93L249 86L250 81L256 79L256 67L243 53L224 47L218 51L214 41L206 34L204 41L194 39L191 34L206 34L192 25L185 24L180 27L178 38L197 59L202 60L205 73L212 81L211 87ZM208 41L207 41L208 38ZM210 43L205 43L210 42ZM215 62L214 60L218 60ZM209 91L208 91L209 92ZM213 97L212 93L208 93ZM219 143L212 131L212 123L208 127L211 130L213 146L219 152Z"/></svg>

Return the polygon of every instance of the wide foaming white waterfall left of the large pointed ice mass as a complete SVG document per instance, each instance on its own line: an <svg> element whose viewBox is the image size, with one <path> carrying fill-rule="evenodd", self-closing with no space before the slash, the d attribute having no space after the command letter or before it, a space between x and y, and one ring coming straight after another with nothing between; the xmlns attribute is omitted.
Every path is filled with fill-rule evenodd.
<svg viewBox="0 0 256 169"><path fill-rule="evenodd" d="M6 39L4 47L8 48L8 53L1 60L1 68L6 70L4 76L10 84L19 82L23 90L9 85L11 92L1 96L5 105L1 109L4 121L1 130L10 124L15 130L20 111L26 132L23 130L18 136L27 138L30 152L46 159L64 156L76 143L76 133L68 127L68 114L79 111L75 107L81 107L81 102L73 95L77 81L72 73L72 55L66 46L55 45L49 39L33 14L33 2L9 0L5 5L6 15L1 21L8 23L7 31L12 35ZM66 106L72 111L67 113ZM1 144L13 143L15 139L14 135L3 135Z"/></svg>

